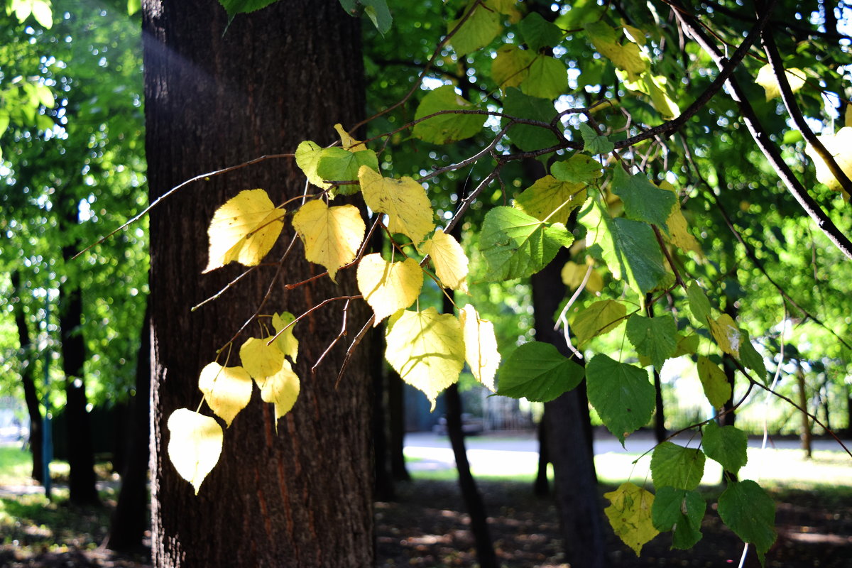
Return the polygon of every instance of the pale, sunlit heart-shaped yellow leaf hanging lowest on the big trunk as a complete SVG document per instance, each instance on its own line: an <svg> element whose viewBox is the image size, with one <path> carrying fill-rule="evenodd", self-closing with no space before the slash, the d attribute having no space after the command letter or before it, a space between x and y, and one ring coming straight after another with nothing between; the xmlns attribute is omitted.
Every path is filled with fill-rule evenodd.
<svg viewBox="0 0 852 568"><path fill-rule="evenodd" d="M215 418L186 408L171 413L169 422L169 459L177 473L193 484L199 494L201 482L207 477L222 453L222 427Z"/></svg>

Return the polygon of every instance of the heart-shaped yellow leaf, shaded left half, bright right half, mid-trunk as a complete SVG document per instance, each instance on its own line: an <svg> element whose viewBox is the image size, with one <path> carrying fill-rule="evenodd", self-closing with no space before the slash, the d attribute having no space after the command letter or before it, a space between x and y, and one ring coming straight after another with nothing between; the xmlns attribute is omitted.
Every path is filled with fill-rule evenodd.
<svg viewBox="0 0 852 568"><path fill-rule="evenodd" d="M366 229L354 205L328 207L322 199L302 205L293 227L305 244L305 258L324 266L332 282L337 282L338 268L355 260Z"/></svg>

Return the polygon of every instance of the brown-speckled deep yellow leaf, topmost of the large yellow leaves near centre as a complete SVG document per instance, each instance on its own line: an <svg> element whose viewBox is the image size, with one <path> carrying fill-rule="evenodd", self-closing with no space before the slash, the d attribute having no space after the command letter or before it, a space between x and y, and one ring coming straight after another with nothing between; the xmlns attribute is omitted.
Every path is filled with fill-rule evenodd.
<svg viewBox="0 0 852 568"><path fill-rule="evenodd" d="M367 207L388 214L390 232L401 232L419 244L435 228L432 204L417 181L410 177L383 178L366 166L358 170L358 180Z"/></svg>

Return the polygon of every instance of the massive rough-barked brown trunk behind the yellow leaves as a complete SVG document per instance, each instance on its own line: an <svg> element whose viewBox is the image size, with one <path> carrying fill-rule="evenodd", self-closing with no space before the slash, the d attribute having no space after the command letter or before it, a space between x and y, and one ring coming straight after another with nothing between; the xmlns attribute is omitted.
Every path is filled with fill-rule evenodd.
<svg viewBox="0 0 852 568"><path fill-rule="evenodd" d="M143 10L152 199L199 173L293 152L303 140L325 145L333 140L334 123L351 125L361 118L360 22L337 0L275 3L238 15L230 26L216 0L145 0ZM255 389L249 406L225 431L222 456L198 496L166 453L170 414L198 406L199 371L255 313L275 278L275 267L261 267L217 301L190 312L243 272L228 266L201 274L206 231L221 204L256 187L281 204L302 194L304 177L292 158L271 160L188 186L151 214L154 563L368 566L369 338L337 388L346 341L314 376L309 371L341 329L343 301L296 325L301 342L294 369L302 378L301 393L277 431L272 405L263 404ZM283 240L292 236L288 220ZM268 260L278 259L285 244ZM338 273L338 284L324 277L283 289L321 272L296 244L262 313L300 314L325 298L357 294L351 270ZM365 307L353 302L349 309L348 337L366 322ZM234 342L228 364L239 363L239 346L248 336L261 335L259 324L250 324Z"/></svg>

